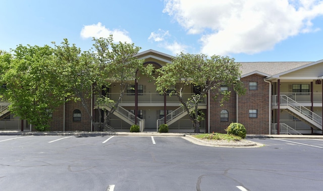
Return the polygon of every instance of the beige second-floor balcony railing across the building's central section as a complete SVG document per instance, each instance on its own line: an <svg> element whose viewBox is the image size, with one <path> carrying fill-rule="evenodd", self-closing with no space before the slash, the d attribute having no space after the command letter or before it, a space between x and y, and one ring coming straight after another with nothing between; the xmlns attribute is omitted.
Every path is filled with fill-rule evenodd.
<svg viewBox="0 0 323 191"><path fill-rule="evenodd" d="M188 100L193 93L184 93L183 97L184 100ZM120 93L109 93L107 95L110 99L117 101L119 99ZM121 103L131 103L135 102L135 95L134 93L125 93L121 99ZM139 103L163 103L164 102L164 95L160 95L159 93L138 93L138 102ZM166 102L168 103L179 103L178 97L175 95L173 96L166 96ZM199 102L201 105L206 104L206 98L203 98L202 101Z"/></svg>

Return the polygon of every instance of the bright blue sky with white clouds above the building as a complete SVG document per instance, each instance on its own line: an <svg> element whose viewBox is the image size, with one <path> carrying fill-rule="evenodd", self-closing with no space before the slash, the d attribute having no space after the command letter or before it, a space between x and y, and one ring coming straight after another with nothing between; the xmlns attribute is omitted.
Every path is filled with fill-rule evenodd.
<svg viewBox="0 0 323 191"><path fill-rule="evenodd" d="M323 1L4 0L0 49L67 38L82 50L113 34L141 51L228 55L236 61L323 59Z"/></svg>

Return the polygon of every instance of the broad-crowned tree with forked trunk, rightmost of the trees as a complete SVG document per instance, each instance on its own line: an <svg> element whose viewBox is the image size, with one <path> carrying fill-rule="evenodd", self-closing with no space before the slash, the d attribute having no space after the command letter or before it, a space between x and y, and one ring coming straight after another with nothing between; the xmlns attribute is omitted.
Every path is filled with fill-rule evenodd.
<svg viewBox="0 0 323 191"><path fill-rule="evenodd" d="M233 58L213 55L208 58L204 54L181 53L173 58L173 62L158 69L159 76L156 79L157 91L165 93L172 91L170 95L176 95L184 106L194 126L194 132L199 133L199 122L204 114L198 110L198 103L206 97L208 92L214 95L214 99L221 93L220 104L229 99L230 91L221 92L221 85L233 86L238 94L244 94L245 89L237 79L240 77L239 65ZM170 90L170 87L174 87ZM199 89L199 93L185 100L183 92L191 86Z"/></svg>

